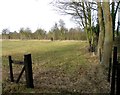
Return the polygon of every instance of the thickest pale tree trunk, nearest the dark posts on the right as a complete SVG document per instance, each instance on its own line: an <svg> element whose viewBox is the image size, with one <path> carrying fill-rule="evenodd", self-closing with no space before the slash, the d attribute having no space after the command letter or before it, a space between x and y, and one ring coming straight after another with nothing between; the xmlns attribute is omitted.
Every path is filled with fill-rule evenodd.
<svg viewBox="0 0 120 95"><path fill-rule="evenodd" d="M103 2L103 13L105 21L105 39L103 48L103 58L102 63L106 66L109 64L109 59L112 54L112 44L113 44L113 32L112 32L112 18L110 14L109 0Z"/></svg>

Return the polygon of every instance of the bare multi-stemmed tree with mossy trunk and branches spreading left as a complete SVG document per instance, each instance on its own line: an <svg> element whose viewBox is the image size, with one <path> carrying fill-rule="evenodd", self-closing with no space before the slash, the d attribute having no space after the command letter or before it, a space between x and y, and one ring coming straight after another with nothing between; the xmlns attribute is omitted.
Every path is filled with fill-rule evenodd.
<svg viewBox="0 0 120 95"><path fill-rule="evenodd" d="M57 8L56 10L62 14L71 15L75 21L84 28L86 38L90 47L94 44L94 33L92 31L92 14L94 2L75 2L73 0L55 0L52 4Z"/></svg>

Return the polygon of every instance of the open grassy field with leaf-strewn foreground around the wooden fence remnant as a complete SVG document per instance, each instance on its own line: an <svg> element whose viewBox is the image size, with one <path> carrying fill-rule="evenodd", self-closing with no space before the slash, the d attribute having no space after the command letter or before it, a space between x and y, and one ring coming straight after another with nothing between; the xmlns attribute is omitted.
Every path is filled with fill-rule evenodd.
<svg viewBox="0 0 120 95"><path fill-rule="evenodd" d="M87 43L80 41L2 41L3 93L109 93L105 72L97 57L87 51ZM34 89L25 87L25 77L19 84L9 79L8 56L23 60L32 55ZM13 65L14 77L22 66Z"/></svg>

